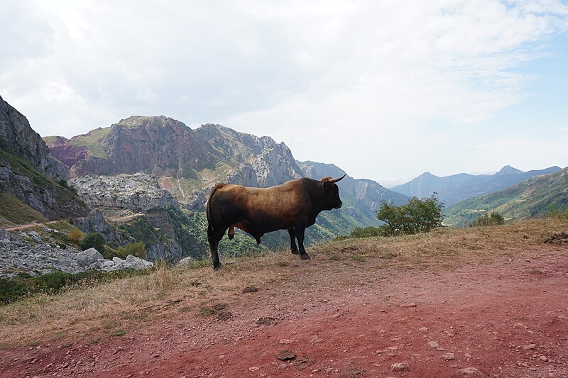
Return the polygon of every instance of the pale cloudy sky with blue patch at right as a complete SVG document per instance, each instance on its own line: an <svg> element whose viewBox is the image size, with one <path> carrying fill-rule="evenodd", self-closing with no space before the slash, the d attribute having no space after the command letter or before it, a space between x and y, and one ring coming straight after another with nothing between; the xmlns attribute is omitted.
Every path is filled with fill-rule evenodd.
<svg viewBox="0 0 568 378"><path fill-rule="evenodd" d="M219 123L386 187L568 166L568 1L0 0L40 135Z"/></svg>

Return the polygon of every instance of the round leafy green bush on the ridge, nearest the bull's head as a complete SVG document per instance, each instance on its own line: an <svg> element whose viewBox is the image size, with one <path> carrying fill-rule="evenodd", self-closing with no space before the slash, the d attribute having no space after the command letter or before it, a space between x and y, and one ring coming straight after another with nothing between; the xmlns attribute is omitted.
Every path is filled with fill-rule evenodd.
<svg viewBox="0 0 568 378"><path fill-rule="evenodd" d="M444 204L437 199L436 194L424 199L413 197L408 204L402 206L382 201L377 218L388 225L389 236L427 233L442 226Z"/></svg>

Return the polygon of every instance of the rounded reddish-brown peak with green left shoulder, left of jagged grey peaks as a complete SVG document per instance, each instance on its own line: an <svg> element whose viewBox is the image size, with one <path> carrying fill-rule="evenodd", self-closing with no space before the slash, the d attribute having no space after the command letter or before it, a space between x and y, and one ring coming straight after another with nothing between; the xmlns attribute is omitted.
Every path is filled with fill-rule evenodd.
<svg viewBox="0 0 568 378"><path fill-rule="evenodd" d="M51 153L77 175L146 172L191 179L217 160L192 129L165 116L132 116L70 140L48 141Z"/></svg>

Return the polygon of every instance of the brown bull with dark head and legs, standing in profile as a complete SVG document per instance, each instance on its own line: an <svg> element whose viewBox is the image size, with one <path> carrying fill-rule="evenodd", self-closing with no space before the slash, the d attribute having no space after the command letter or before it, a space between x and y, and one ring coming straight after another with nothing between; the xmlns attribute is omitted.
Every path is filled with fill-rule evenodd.
<svg viewBox="0 0 568 378"><path fill-rule="evenodd" d="M219 240L227 229L229 239L234 228L240 228L261 243L265 233L288 230L292 253L300 253L302 260L310 259L304 248L304 231L315 223L322 210L339 209L339 179L325 177L295 179L271 188L247 188L241 185L217 184L207 201L207 239L211 248L213 269L219 269ZM295 240L297 239L298 247Z"/></svg>

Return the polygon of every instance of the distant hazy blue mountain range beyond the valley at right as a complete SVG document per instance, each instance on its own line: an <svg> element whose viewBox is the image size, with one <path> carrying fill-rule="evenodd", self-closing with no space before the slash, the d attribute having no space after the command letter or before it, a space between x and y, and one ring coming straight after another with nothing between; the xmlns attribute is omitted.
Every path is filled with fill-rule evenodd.
<svg viewBox="0 0 568 378"><path fill-rule="evenodd" d="M419 198L431 196L434 192L437 192L438 199L445 206L452 206L461 200L499 191L530 177L549 174L559 170L560 167L555 166L523 172L506 165L496 174L474 175L459 173L452 176L438 177L430 172L425 172L410 182L393 187L391 190Z"/></svg>

